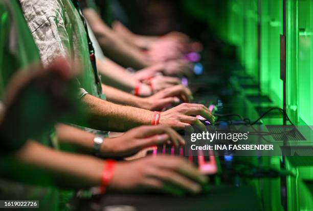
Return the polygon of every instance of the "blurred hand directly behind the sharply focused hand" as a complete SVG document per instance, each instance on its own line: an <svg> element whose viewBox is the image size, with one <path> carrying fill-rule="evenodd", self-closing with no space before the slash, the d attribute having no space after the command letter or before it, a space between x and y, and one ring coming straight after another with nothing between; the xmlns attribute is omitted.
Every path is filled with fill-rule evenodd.
<svg viewBox="0 0 313 211"><path fill-rule="evenodd" d="M161 111L169 105L178 104L180 101L189 102L192 99L192 93L187 87L176 85L161 90L150 97L143 98L141 108L151 111Z"/></svg>

